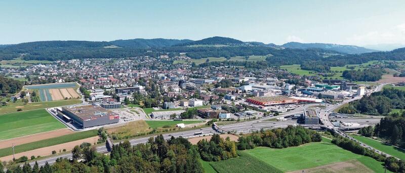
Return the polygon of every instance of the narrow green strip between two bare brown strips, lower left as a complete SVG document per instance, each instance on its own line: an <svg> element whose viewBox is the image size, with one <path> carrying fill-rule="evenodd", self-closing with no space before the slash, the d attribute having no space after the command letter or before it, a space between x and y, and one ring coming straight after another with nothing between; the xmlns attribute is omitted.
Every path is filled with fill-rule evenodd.
<svg viewBox="0 0 405 173"><path fill-rule="evenodd" d="M78 133L65 135L65 136L61 136L61 137L46 139L46 140L37 141L37 142L31 142L31 143L22 144L22 145L17 145L14 147L14 152L21 153L24 151L30 151L30 150L34 150L34 149L38 149L38 148L49 147L49 146L63 144L63 143L67 143L67 142L82 140L82 139L86 139L86 138L95 137L95 136L97 136L97 134L98 134L98 131L96 129L93 129L90 131L78 132ZM0 157L9 156L12 154L13 154L13 149L11 147L0 149ZM27 157L29 157L29 156L27 156Z"/></svg>

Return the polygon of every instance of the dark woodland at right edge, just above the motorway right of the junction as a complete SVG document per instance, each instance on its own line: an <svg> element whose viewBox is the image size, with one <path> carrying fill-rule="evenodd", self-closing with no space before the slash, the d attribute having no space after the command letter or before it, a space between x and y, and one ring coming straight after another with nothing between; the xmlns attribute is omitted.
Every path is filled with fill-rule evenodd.
<svg viewBox="0 0 405 173"><path fill-rule="evenodd" d="M339 113L388 115L392 109L405 109L405 91L384 89L350 103L349 106L341 108Z"/></svg>

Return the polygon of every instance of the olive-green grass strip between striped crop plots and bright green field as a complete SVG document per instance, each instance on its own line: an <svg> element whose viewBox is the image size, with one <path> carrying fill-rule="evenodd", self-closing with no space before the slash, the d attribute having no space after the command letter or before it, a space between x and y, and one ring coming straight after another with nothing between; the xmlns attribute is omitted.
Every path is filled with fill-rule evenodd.
<svg viewBox="0 0 405 173"><path fill-rule="evenodd" d="M74 105L82 103L81 100L61 100L52 102L33 102L33 103L7 103L7 106L0 106L0 113L11 113L17 112L17 109L22 109L23 111L52 108L65 105ZM2 115L0 114L0 116Z"/></svg>

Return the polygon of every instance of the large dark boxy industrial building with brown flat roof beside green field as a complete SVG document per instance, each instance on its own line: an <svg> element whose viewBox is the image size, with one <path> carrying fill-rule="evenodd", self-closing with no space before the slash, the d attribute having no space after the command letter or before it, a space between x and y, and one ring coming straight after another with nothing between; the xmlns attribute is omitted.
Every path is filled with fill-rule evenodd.
<svg viewBox="0 0 405 173"><path fill-rule="evenodd" d="M112 124L119 121L117 113L93 105L64 106L62 107L62 116L67 116L73 124L81 128Z"/></svg>

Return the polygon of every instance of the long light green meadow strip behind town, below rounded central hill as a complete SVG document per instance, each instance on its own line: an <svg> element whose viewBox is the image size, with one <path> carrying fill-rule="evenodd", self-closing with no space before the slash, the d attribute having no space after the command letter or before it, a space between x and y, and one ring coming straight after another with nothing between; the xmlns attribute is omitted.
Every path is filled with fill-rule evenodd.
<svg viewBox="0 0 405 173"><path fill-rule="evenodd" d="M272 56L272 55L266 55L266 56L258 56L258 55L251 55L249 56L248 59L245 59L245 57L241 56L236 56L236 57L231 57L229 61L265 61L267 56ZM173 64L178 64L178 63L195 63L195 64L201 64L207 62L207 59L209 59L210 62L214 61L225 61L225 57L208 57L208 58L201 58L201 59L189 59L189 60L175 60Z"/></svg>

